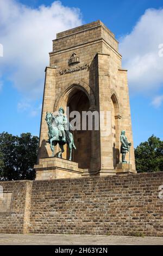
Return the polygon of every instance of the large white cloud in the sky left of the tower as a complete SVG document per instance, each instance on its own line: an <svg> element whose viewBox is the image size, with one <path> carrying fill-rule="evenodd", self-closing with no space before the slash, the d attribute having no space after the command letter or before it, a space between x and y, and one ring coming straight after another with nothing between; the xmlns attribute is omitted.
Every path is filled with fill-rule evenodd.
<svg viewBox="0 0 163 256"><path fill-rule="evenodd" d="M20 92L38 98L56 33L81 24L79 9L59 1L33 9L15 0L0 0L1 79L8 76Z"/></svg>

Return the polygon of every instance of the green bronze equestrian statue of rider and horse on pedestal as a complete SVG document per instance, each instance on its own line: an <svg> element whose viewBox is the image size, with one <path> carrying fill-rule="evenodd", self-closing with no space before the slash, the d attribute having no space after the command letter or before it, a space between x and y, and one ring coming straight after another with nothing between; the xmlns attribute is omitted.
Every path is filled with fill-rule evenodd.
<svg viewBox="0 0 163 256"><path fill-rule="evenodd" d="M54 147L59 144L61 151L58 153L58 157L62 157L64 153L64 145L67 143L70 149L69 160L72 160L72 149L76 149L73 141L73 135L70 132L70 123L64 115L64 109L59 108L59 114L55 117L52 113L46 113L46 123L48 125L48 143L51 145L52 156L54 156Z"/></svg>

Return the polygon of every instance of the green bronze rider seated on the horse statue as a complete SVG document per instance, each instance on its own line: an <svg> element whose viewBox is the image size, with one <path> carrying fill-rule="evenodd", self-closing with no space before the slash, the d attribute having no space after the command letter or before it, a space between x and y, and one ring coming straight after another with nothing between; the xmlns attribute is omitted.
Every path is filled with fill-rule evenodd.
<svg viewBox="0 0 163 256"><path fill-rule="evenodd" d="M59 108L59 114L57 115L57 117L54 117L53 115L53 119L55 121L55 123L57 123L58 126L58 130L59 130L59 136L61 137L61 141L62 142L70 142L70 137L68 134L68 125L70 125L68 123L67 117L64 115L65 111L62 107Z"/></svg>

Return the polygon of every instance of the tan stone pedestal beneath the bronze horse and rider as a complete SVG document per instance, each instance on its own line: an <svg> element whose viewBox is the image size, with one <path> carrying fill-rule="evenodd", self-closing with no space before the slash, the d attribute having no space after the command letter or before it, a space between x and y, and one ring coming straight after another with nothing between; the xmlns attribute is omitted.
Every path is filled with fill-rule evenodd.
<svg viewBox="0 0 163 256"><path fill-rule="evenodd" d="M35 180L53 180L64 178L80 178L83 169L78 168L78 163L59 157L47 157L39 160L34 166Z"/></svg>

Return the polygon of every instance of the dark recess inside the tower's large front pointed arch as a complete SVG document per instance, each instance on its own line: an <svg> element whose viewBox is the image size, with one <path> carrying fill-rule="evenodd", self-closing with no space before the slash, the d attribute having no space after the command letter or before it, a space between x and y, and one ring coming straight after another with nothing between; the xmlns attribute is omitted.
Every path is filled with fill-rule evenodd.
<svg viewBox="0 0 163 256"><path fill-rule="evenodd" d="M69 113L78 111L80 113L80 130L72 131L74 143L77 150L73 150L72 161L78 162L79 168L90 169L91 164L91 132L82 130L82 111L89 111L90 101L86 93L79 88L74 88L68 95L67 107ZM70 121L73 118L70 118ZM67 149L68 154L68 149Z"/></svg>

